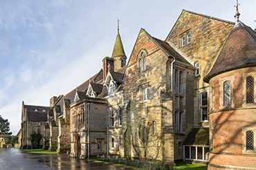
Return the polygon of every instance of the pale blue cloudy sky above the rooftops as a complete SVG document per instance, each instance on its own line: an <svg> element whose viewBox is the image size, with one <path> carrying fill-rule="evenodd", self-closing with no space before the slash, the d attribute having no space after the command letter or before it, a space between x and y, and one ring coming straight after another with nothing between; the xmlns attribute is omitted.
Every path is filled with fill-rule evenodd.
<svg viewBox="0 0 256 170"><path fill-rule="evenodd" d="M240 20L255 28L255 0L240 0ZM117 34L127 57L140 28L165 39L183 9L235 21L235 0L0 0L0 115L15 135L21 102L49 106L102 67Z"/></svg>

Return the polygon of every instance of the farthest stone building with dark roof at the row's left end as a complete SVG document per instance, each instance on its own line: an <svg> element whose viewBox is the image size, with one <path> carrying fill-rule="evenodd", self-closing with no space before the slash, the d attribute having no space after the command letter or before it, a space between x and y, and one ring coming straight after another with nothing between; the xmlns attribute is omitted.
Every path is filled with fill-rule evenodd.
<svg viewBox="0 0 256 170"><path fill-rule="evenodd" d="M47 121L48 106L32 106L22 102L21 110L21 149L33 148L30 135L39 133L44 136L44 124ZM44 145L43 138L39 141L39 147Z"/></svg>

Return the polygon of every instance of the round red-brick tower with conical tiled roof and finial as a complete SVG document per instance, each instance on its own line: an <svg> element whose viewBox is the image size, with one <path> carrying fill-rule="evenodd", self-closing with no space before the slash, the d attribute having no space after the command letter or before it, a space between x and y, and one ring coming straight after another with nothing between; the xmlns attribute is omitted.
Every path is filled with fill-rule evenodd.
<svg viewBox="0 0 256 170"><path fill-rule="evenodd" d="M256 169L256 32L239 15L237 9L235 26L203 79L210 85L208 169Z"/></svg>

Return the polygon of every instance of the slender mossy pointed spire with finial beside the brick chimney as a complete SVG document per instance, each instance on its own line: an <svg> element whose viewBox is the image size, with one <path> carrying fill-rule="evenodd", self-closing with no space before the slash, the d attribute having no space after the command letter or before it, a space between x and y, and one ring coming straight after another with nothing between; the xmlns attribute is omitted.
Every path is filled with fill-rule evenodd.
<svg viewBox="0 0 256 170"><path fill-rule="evenodd" d="M125 50L122 46L122 40L119 35L119 21L120 21L120 19L118 19L118 35L116 35L116 42L115 42L115 46L113 47L112 58L125 57L125 59L126 59L127 57L125 55Z"/></svg>

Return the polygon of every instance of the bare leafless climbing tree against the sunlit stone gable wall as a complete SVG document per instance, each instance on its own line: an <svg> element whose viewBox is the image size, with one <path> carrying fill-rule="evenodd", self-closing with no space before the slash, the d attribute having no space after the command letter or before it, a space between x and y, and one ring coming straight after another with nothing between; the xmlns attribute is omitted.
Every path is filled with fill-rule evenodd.
<svg viewBox="0 0 256 170"><path fill-rule="evenodd" d="M156 160L163 146L163 133L157 133L152 123L138 124L138 134L131 133L131 146L140 160Z"/></svg>

